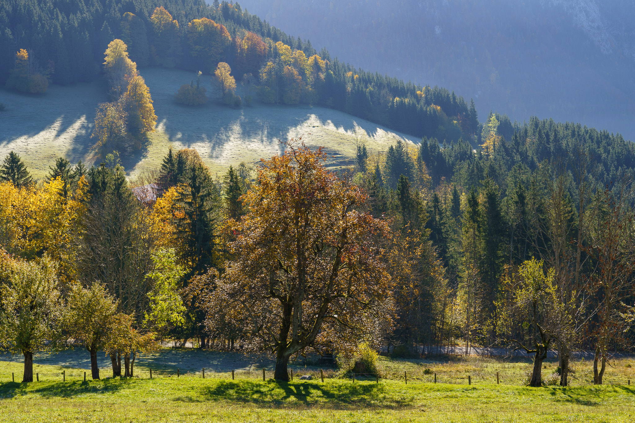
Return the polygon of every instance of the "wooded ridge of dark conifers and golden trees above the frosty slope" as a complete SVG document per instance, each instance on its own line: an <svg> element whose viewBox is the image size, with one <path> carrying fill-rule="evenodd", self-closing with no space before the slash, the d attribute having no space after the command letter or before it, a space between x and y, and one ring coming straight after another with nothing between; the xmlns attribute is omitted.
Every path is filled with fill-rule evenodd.
<svg viewBox="0 0 635 423"><path fill-rule="evenodd" d="M139 67L212 74L219 62L227 62L237 81L258 87L265 103L323 105L439 140L471 140L480 133L473 102L444 88L355 69L237 3L0 0L0 8L3 82L18 49L28 51L29 65L43 69L52 82L91 81L101 72L109 42L120 38Z"/></svg>

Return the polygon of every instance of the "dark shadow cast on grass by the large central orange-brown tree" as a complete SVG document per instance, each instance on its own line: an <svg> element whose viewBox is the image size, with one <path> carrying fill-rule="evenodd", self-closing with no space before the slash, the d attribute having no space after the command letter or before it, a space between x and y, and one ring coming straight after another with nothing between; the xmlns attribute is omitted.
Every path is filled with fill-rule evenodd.
<svg viewBox="0 0 635 423"><path fill-rule="evenodd" d="M383 384L320 384L317 382L219 381L200 391L201 401L227 400L266 407L302 404L306 407L328 405L329 408L411 407L412 398L387 393ZM175 401L192 401L178 397Z"/></svg>

